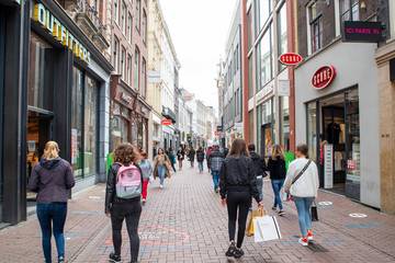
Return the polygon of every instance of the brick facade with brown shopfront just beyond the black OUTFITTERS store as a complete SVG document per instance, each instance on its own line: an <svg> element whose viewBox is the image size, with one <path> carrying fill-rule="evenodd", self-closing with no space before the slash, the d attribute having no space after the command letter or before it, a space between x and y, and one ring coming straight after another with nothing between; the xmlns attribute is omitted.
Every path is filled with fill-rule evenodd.
<svg viewBox="0 0 395 263"><path fill-rule="evenodd" d="M111 10L111 145L132 142L148 150L147 1L110 1Z"/></svg>

